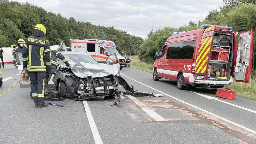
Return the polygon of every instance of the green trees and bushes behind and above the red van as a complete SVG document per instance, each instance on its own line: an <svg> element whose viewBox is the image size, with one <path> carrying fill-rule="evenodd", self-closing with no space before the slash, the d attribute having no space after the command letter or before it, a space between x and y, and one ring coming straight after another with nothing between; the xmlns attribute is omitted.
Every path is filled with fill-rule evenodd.
<svg viewBox="0 0 256 144"><path fill-rule="evenodd" d="M214 24L232 27L235 32L254 30L254 53L256 59L256 5L255 0L223 0L224 6L209 12L200 22L193 22L179 28L166 27L161 30L148 33L140 47L139 58L147 63L154 61L155 52L159 52L165 41L171 34L177 31L189 31L199 29L201 24ZM256 67L256 62L253 64Z"/></svg>

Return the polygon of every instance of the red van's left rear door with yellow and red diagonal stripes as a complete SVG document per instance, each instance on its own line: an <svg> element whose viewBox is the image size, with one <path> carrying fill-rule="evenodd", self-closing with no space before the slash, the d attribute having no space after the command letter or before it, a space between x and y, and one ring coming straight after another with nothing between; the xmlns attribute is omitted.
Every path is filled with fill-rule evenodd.
<svg viewBox="0 0 256 144"><path fill-rule="evenodd" d="M212 25L204 30L196 56L195 79L205 80L207 78L206 74L210 58L210 51L213 45L215 29L216 26Z"/></svg>

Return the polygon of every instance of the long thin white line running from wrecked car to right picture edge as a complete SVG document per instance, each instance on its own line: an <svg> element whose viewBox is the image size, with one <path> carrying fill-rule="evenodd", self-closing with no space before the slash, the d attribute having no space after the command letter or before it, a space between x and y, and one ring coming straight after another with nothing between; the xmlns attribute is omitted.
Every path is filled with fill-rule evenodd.
<svg viewBox="0 0 256 144"><path fill-rule="evenodd" d="M121 73L121 74L122 74L122 73ZM142 85L145 85L145 84L143 84L143 83L141 83L141 82L139 82L139 81L137 81L137 80L135 80L135 79L133 79L133 78L130 78L130 77L124 75L124 74L122 74L122 75L125 76L125 77L127 77L127 78L129 78L129 79L134 80L135 82L138 82L138 83L140 83L140 84L142 84ZM171 98L173 98L173 99L176 99L177 101L180 101L180 102L182 102L182 103L185 103L185 104L187 104L187 105L190 105L190 106L193 107L193 108L196 108L196 109L198 109L198 110L201 110L201 111L203 111L203 112L206 112L207 114L213 115L213 116L215 116L215 117L217 117L217 118L220 118L221 120L224 120L224 121L226 121L226 122L228 122L228 123L234 124L235 126L238 126L238 127L242 128L242 129L248 130L249 132L252 132L252 133L256 134L256 132L255 132L254 130L251 130L251 129L249 129L249 128L246 128L246 127L244 127L244 126L241 126L240 124L237 124L237 123L234 123L234 122L232 122L232 121L229 121L229 120L227 120L226 118L223 118L223 117L220 117L220 116L218 116L218 115L215 115L215 114L213 114L213 113L211 113L211 112L209 112L209 111L206 111L206 110L204 110L204 109L198 108L198 107L196 107L195 105L192 105L192 104L189 104L189 103L187 103L187 102L184 102L184 101L182 101L182 100L180 100L180 99L178 99L178 98L176 98L176 97L170 96L170 95L168 95L168 94L166 94L166 93L164 93L164 92L161 92L161 91L159 91L159 90L157 90L157 89L154 89L153 87L150 87L150 86L148 86L148 85L145 85L145 86L147 86L147 87L149 87L149 88L151 88L151 89L153 89L153 90L155 90L155 91L158 91L158 92L160 92L160 93L162 93L162 94L164 94L164 95L166 95L166 96L168 96L168 97L171 97Z"/></svg>

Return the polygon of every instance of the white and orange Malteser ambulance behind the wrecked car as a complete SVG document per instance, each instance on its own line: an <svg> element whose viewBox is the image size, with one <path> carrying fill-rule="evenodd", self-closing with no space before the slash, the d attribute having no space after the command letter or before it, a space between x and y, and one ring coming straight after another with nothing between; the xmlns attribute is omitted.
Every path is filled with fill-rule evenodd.
<svg viewBox="0 0 256 144"><path fill-rule="evenodd" d="M104 63L110 54L115 53L120 64L120 69L126 66L126 60L116 50L112 41L92 39L70 39L70 47L73 51L86 52L99 63Z"/></svg>

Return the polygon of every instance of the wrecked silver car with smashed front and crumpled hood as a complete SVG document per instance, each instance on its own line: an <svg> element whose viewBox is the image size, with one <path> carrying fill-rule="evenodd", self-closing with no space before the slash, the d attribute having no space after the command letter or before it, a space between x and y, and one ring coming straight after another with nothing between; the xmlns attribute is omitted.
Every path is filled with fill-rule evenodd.
<svg viewBox="0 0 256 144"><path fill-rule="evenodd" d="M57 72L57 80L55 88L59 92L56 99L64 100L65 97L82 101L89 98L117 96L118 101L115 105L121 102L120 94L129 94L132 96L152 96L158 97L154 93L135 91L133 86L130 86L126 80L120 76L120 64L118 63L117 55L111 54L104 64L99 64L93 57L84 52L74 52L71 48L59 47L57 50L65 56L71 64L66 65L59 61ZM22 67L22 55L16 53L19 70ZM30 87L30 82L21 82L21 87ZM122 87L125 91L120 91ZM51 100L51 99L49 99ZM52 98L52 100L55 100Z"/></svg>

